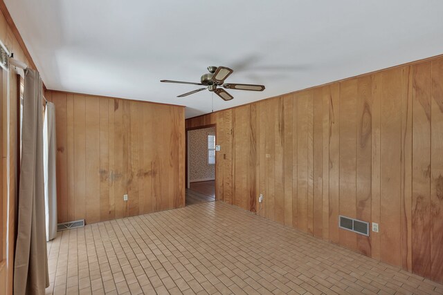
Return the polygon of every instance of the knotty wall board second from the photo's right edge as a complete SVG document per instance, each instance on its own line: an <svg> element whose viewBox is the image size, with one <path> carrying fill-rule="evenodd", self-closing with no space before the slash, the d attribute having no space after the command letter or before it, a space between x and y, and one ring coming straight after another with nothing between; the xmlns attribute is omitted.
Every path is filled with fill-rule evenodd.
<svg viewBox="0 0 443 295"><path fill-rule="evenodd" d="M413 272L431 272L431 63L413 70Z"/></svg>

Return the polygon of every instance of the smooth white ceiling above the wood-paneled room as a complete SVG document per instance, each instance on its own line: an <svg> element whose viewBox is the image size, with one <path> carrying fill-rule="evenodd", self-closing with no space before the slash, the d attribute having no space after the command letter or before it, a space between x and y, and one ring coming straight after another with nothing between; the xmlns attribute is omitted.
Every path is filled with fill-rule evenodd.
<svg viewBox="0 0 443 295"><path fill-rule="evenodd" d="M262 93L214 95L214 110L443 53L443 1L5 0L49 89L187 106L209 113L199 82L228 66L226 82Z"/></svg>

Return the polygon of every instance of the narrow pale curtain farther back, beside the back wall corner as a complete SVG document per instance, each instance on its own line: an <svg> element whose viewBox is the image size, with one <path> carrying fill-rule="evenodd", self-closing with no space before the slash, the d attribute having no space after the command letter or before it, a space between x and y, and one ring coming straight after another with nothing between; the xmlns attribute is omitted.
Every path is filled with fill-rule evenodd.
<svg viewBox="0 0 443 295"><path fill-rule="evenodd" d="M43 168L44 168L44 202L46 209L46 240L57 236L57 178L55 158L57 154L55 139L55 106L46 104L43 122Z"/></svg>

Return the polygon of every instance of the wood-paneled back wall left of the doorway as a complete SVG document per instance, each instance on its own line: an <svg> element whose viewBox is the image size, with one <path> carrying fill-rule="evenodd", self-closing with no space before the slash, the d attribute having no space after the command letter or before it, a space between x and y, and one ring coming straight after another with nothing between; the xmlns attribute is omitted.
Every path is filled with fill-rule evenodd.
<svg viewBox="0 0 443 295"><path fill-rule="evenodd" d="M55 104L58 222L184 206L183 106L58 91L46 97Z"/></svg>

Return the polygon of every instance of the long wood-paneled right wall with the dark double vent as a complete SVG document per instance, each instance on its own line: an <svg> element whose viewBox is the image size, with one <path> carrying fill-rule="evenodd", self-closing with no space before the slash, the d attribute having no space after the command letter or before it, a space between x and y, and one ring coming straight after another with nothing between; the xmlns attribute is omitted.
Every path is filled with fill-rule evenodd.
<svg viewBox="0 0 443 295"><path fill-rule="evenodd" d="M443 57L186 120L207 124L219 200L443 281Z"/></svg>

